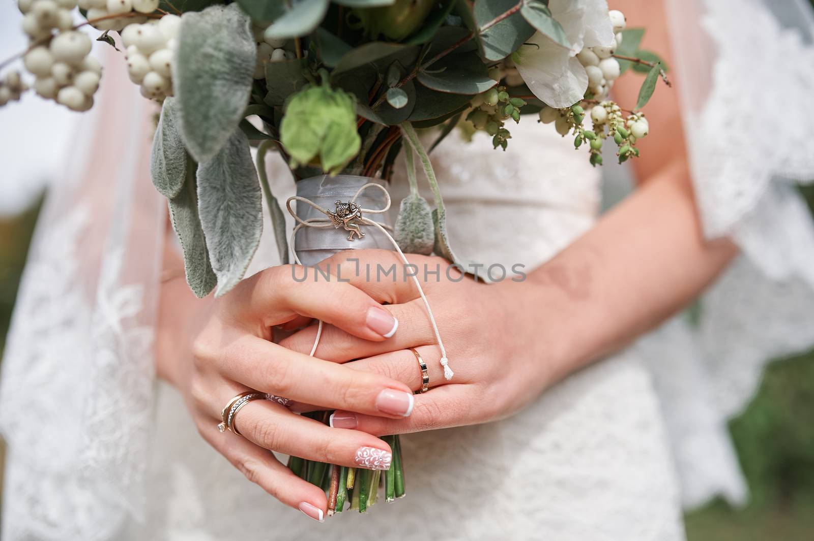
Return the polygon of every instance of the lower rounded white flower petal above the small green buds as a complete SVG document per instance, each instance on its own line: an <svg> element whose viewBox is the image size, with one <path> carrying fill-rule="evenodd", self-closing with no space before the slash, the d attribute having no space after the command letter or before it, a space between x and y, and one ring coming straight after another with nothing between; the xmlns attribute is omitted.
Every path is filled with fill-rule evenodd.
<svg viewBox="0 0 814 541"><path fill-rule="evenodd" d="M588 74L580 61L540 32L527 43L520 47L515 65L532 93L551 107L579 102L588 89Z"/></svg>

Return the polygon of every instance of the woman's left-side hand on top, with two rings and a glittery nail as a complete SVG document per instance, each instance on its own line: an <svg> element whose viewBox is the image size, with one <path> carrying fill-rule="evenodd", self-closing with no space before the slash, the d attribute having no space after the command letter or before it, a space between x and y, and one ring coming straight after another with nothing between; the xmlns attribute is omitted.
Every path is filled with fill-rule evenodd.
<svg viewBox="0 0 814 541"><path fill-rule="evenodd" d="M221 409L233 396L255 389L319 409L405 418L413 408L413 394L405 383L270 341L275 326L298 326L320 318L356 340L375 344L387 341L396 318L349 283L335 279L296 283L291 266L262 271L229 294L208 301L190 298L182 279L173 282L176 288L165 284L162 290L160 374L182 392L195 425L212 447L278 500L322 520L327 508L322 489L296 477L267 449L358 466L357 456L370 448L379 450L387 462L391 452L387 444L361 431L331 430L274 400L252 400L240 409L234 425L243 437L221 433L217 427ZM207 308L201 311L202 306ZM177 344L192 347L184 351Z"/></svg>

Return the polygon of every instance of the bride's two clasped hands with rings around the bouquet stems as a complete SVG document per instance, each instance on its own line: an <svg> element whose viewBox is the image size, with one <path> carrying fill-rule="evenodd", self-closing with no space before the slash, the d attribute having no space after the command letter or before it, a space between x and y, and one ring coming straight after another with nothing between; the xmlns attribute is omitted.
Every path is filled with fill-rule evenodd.
<svg viewBox="0 0 814 541"><path fill-rule="evenodd" d="M503 418L549 379L535 321L543 305L539 284L507 279L487 285L447 270L441 258L408 259L430 270L417 276L455 373L451 381L444 379L427 310L405 275L409 269L392 252L338 253L318 270L272 267L195 317L191 362L173 383L199 433L252 482L311 517L322 519L326 511L322 489L291 474L267 450L370 467L361 457L391 451L375 436ZM392 266L395 274L375 274ZM314 319L324 328L309 357ZM274 343L275 330L288 335ZM422 374L409 348L427 363L426 393L414 394ZM254 400L234 419L240 435L221 434L221 408L250 389L291 404ZM317 409L336 410L330 426L296 414Z"/></svg>

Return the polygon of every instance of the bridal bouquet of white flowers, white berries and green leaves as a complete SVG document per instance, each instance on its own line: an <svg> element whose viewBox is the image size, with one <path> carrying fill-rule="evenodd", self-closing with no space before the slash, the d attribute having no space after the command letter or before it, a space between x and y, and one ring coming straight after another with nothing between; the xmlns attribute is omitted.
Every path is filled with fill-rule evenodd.
<svg viewBox="0 0 814 541"><path fill-rule="evenodd" d="M624 162L639 155L637 141L650 129L641 108L658 80L667 82L659 58L639 49L643 30L625 28L624 15L608 11L605 0L18 5L30 38L18 58L29 75L7 72L0 105L33 87L72 110L90 109L103 73L89 56L85 25L98 29L98 41L124 49L130 79L144 97L161 103L151 176L168 199L187 282L198 296L216 288L222 295L243 278L260 243L264 193L282 262L288 262L282 209L265 178L269 149L282 155L297 181L327 175L352 184L348 197L369 181L389 180L404 150L410 195L401 202L392 238L405 252L436 253L454 263L428 158L445 136L456 129L469 136L486 132L494 149L506 149L514 123L539 121L553 124L540 129L573 137L594 166L602 164L609 140ZM77 7L84 22L77 23ZM628 69L646 73L630 110L609 98ZM414 156L434 209L418 193ZM357 208L352 200L337 201L327 214L339 227ZM354 242L363 247L358 225L335 234L344 238L350 231L350 241L357 227ZM326 413L311 415L326 421ZM365 511L379 483L387 500L404 495L400 444L396 436L385 439L393 463L383 473L296 457L289 465L330 492L331 511L346 501Z"/></svg>

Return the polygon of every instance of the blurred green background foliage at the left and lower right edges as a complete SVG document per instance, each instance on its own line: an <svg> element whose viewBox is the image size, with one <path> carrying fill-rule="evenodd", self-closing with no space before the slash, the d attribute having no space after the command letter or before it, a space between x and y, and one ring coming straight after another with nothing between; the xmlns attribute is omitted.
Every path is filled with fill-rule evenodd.
<svg viewBox="0 0 814 541"><path fill-rule="evenodd" d="M812 205L814 190L806 195ZM40 206L37 201L22 214L0 218L0 353ZM729 429L751 501L744 509L714 501L688 513L689 541L812 541L814 353L773 363L755 400Z"/></svg>

